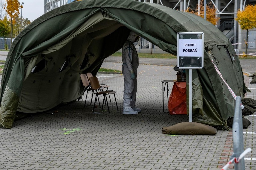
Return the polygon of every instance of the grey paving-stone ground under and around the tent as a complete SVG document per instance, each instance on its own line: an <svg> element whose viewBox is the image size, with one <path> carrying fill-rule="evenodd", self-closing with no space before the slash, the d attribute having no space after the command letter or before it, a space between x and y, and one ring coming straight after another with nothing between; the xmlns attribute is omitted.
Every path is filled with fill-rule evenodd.
<svg viewBox="0 0 256 170"><path fill-rule="evenodd" d="M118 69L121 63L109 60L102 67ZM98 74L100 83L116 91L119 111L111 96L111 113L106 106L101 111L98 103L95 111L99 114L92 113L89 92L86 107L84 101L75 101L16 121L11 129L0 128L0 169L220 170L233 152L232 130L218 130L214 136L161 132L162 127L188 122L186 115L163 113L160 81L176 79L175 73L173 66L139 66L136 105L142 113L137 115L122 114L123 76ZM256 99L256 86L249 84L250 79L245 76L251 89L247 97ZM245 156L246 170L256 169L256 135L246 133L256 132L255 116L247 116L251 125L243 129L244 147L252 148Z"/></svg>

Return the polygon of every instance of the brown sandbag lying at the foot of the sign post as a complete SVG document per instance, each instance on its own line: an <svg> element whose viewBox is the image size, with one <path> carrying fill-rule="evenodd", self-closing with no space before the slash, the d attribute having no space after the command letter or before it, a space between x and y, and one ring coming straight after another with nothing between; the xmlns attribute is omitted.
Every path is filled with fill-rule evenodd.
<svg viewBox="0 0 256 170"><path fill-rule="evenodd" d="M216 129L209 125L197 122L182 122L173 126L163 127L163 134L177 135L215 135Z"/></svg>

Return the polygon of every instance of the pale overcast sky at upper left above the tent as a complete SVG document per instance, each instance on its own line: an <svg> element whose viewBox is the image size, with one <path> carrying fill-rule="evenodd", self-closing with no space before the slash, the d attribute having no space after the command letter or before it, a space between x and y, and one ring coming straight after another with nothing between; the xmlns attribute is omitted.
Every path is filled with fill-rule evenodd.
<svg viewBox="0 0 256 170"><path fill-rule="evenodd" d="M44 14L44 0L19 0L23 4L20 11L23 18L28 18L31 22Z"/></svg>

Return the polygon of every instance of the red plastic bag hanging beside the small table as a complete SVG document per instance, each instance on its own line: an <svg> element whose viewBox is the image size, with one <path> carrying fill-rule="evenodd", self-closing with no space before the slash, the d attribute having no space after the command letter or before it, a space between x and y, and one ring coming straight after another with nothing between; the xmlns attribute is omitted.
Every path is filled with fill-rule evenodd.
<svg viewBox="0 0 256 170"><path fill-rule="evenodd" d="M187 114L186 82L174 82L169 97L168 109L171 115Z"/></svg>

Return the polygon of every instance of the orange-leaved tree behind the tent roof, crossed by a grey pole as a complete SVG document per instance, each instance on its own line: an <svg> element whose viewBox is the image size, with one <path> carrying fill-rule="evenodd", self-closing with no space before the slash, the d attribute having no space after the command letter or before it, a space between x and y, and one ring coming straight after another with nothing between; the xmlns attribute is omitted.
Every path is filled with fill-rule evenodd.
<svg viewBox="0 0 256 170"><path fill-rule="evenodd" d="M197 16L204 18L204 1L201 0L200 4L197 4L195 10L187 8L186 12L193 13ZM213 25L216 25L220 18L216 16L216 8L211 4L206 4L206 20L211 22Z"/></svg>

